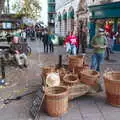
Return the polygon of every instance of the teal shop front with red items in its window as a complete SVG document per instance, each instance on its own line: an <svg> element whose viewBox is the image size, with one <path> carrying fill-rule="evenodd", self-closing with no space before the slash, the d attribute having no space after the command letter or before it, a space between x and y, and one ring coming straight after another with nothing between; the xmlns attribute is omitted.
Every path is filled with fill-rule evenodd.
<svg viewBox="0 0 120 120"><path fill-rule="evenodd" d="M120 51L120 2L89 6L89 10L91 12L90 40L92 40L99 27L106 29L107 26L114 34L117 33L114 50Z"/></svg>

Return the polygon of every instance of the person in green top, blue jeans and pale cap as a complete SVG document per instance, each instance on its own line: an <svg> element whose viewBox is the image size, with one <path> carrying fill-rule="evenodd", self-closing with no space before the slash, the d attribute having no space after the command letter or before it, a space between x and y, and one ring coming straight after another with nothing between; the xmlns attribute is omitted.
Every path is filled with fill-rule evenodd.
<svg viewBox="0 0 120 120"><path fill-rule="evenodd" d="M92 39L91 45L94 53L91 59L91 69L100 71L100 65L103 63L107 40L104 29L99 28L97 35Z"/></svg>

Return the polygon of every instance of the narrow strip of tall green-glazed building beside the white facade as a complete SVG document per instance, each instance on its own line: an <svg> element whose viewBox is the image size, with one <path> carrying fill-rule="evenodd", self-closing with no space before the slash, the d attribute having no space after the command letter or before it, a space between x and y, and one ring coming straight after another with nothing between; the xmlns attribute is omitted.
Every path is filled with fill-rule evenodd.
<svg viewBox="0 0 120 120"><path fill-rule="evenodd" d="M48 28L51 32L55 32L55 0L48 0Z"/></svg>

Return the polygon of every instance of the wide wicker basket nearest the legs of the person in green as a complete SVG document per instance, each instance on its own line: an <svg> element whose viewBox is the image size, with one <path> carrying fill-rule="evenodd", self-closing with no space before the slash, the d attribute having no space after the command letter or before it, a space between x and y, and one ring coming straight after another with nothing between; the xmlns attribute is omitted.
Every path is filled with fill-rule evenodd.
<svg viewBox="0 0 120 120"><path fill-rule="evenodd" d="M100 74L94 70L84 70L80 73L80 81L87 84L94 86L97 84Z"/></svg>

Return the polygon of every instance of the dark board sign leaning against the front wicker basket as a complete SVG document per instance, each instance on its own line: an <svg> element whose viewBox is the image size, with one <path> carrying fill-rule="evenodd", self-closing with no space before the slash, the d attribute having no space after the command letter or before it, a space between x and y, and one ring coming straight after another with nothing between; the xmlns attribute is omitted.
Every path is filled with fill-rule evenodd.
<svg viewBox="0 0 120 120"><path fill-rule="evenodd" d="M37 120L39 117L40 108L42 105L42 102L44 100L45 93L43 91L43 87L40 86L40 88L37 90L36 95L33 99L32 106L30 108L30 113L34 120Z"/></svg>

